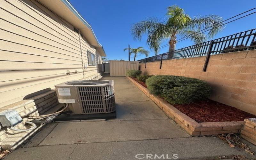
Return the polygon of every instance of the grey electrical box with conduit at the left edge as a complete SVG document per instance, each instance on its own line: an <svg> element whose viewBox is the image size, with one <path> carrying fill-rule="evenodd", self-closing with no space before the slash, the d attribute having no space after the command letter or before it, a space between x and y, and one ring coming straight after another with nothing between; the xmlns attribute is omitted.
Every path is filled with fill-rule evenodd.
<svg viewBox="0 0 256 160"><path fill-rule="evenodd" d="M14 127L22 121L22 118L16 110L7 110L0 113L0 123L3 127Z"/></svg>

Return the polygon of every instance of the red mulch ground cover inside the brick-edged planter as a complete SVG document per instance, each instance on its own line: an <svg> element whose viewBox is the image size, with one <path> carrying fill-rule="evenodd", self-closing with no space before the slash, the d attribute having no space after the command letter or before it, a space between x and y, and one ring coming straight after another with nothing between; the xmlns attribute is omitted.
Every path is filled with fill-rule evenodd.
<svg viewBox="0 0 256 160"><path fill-rule="evenodd" d="M132 79L148 88L137 78ZM174 104L173 106L198 123L244 121L245 118L256 118L250 113L209 99L190 104Z"/></svg>

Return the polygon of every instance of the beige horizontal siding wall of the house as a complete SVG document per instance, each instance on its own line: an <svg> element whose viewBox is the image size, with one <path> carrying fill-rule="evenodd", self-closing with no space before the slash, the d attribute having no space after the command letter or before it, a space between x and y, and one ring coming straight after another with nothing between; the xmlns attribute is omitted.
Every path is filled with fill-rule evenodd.
<svg viewBox="0 0 256 160"><path fill-rule="evenodd" d="M101 56L83 36L80 48L79 34L67 21L35 0L0 4L0 108L55 84L100 75ZM97 61L83 73L87 51ZM67 75L67 69L77 73Z"/></svg>

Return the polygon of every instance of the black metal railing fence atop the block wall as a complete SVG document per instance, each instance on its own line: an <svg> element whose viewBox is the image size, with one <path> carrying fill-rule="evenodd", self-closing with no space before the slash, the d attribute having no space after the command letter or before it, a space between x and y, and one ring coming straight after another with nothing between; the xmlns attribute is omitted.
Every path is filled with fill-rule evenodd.
<svg viewBox="0 0 256 160"><path fill-rule="evenodd" d="M181 48L173 52L167 52L156 56L138 60L140 63L161 61L162 60L180 59L189 57L198 57L207 55L204 70L206 70L210 55L237 52L256 49L256 28L236 33L230 36L221 37L201 44L195 44L189 47ZM146 65L145 65L146 67Z"/></svg>

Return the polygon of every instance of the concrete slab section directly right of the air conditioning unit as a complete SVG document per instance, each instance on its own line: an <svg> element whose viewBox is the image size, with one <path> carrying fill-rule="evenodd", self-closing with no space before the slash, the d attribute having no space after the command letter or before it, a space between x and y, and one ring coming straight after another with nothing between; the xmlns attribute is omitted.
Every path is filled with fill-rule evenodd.
<svg viewBox="0 0 256 160"><path fill-rule="evenodd" d="M169 119L152 101L116 103L116 119L108 121Z"/></svg>

